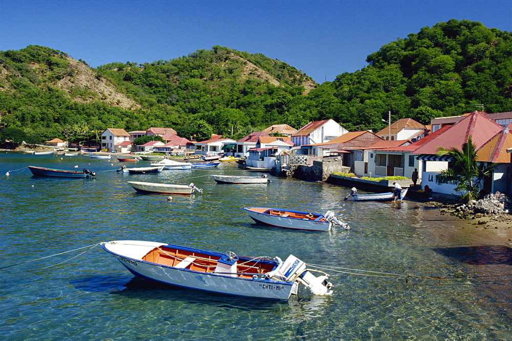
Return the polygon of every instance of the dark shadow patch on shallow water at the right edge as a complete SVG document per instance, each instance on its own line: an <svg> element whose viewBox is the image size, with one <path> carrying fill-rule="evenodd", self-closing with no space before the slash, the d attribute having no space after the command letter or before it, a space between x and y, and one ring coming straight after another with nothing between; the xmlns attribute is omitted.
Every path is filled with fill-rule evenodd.
<svg viewBox="0 0 512 341"><path fill-rule="evenodd" d="M459 246L433 248L445 257L473 265L512 265L512 248L501 245Z"/></svg>

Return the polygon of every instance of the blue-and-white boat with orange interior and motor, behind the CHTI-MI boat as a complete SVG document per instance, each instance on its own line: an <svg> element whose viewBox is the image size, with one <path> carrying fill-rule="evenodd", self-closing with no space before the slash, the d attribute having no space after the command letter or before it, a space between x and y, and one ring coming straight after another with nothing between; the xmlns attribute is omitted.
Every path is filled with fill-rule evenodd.
<svg viewBox="0 0 512 341"><path fill-rule="evenodd" d="M339 225L346 230L350 229L348 224L337 219L331 211L327 211L325 215L320 215L269 207L244 207L244 210L255 222L271 226L298 230L330 231L334 225Z"/></svg>

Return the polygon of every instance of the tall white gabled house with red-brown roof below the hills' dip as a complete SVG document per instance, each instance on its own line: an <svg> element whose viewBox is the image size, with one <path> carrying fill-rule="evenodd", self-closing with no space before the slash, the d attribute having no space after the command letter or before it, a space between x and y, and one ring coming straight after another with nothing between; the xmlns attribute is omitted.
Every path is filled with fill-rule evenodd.
<svg viewBox="0 0 512 341"><path fill-rule="evenodd" d="M348 132L348 130L339 125L336 121L328 119L309 122L292 134L291 141L295 146L324 143Z"/></svg>

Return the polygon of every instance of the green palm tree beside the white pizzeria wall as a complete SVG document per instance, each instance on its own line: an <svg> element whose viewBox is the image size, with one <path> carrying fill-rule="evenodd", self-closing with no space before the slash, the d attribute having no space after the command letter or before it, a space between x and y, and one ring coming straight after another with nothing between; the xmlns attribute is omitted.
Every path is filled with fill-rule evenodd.
<svg viewBox="0 0 512 341"><path fill-rule="evenodd" d="M462 150L455 147L448 149L439 147L437 155L452 157L448 168L441 172L437 182L454 181L457 184L455 190L463 193L461 199L465 202L479 197L483 178L490 176L498 165L496 163L486 165L477 161L476 147L471 136L462 145Z"/></svg>

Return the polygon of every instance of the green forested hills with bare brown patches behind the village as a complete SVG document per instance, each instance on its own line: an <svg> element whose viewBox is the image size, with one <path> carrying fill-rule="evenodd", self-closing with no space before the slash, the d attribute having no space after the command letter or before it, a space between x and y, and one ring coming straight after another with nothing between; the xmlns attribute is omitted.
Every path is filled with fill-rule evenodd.
<svg viewBox="0 0 512 341"><path fill-rule="evenodd" d="M188 136L201 122L239 138L273 123L298 129L326 118L375 131L388 111L393 121L428 124L481 110L479 104L487 112L512 110L509 32L452 19L382 46L367 62L318 85L285 62L220 46L97 69L65 52L28 46L0 52L0 129L76 141L106 127L165 126Z"/></svg>

